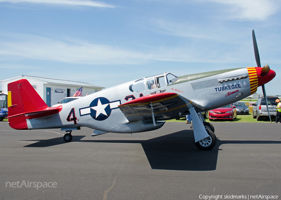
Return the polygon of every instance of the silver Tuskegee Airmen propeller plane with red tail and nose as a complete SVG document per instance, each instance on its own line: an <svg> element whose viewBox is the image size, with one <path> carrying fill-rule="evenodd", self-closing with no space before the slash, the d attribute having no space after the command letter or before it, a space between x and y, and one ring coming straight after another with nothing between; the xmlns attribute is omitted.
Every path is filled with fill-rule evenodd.
<svg viewBox="0 0 281 200"><path fill-rule="evenodd" d="M275 77L268 65L260 66L256 39L254 52L258 67L223 69L175 76L169 72L137 79L57 107L48 107L26 79L8 84L8 119L14 129L61 128L64 140L71 131L86 126L92 136L107 132L135 133L158 129L168 119L191 114L195 145L210 150L216 144L214 126L201 112L237 102L255 93ZM266 103L267 104L267 103Z"/></svg>

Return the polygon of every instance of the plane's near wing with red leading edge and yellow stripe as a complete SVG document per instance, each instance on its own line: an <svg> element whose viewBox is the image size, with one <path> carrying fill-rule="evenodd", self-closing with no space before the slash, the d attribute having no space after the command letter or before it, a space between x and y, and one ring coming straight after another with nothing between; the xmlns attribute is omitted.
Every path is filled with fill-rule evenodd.
<svg viewBox="0 0 281 200"><path fill-rule="evenodd" d="M192 105L195 103L177 93L158 93L134 99L118 107L128 121L151 121L153 117L155 120L180 117Z"/></svg>

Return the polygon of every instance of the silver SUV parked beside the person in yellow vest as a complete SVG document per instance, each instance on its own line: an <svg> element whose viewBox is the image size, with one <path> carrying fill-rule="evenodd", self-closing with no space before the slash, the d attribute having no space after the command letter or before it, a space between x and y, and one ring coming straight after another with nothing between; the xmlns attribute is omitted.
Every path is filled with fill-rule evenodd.
<svg viewBox="0 0 281 200"><path fill-rule="evenodd" d="M275 102L278 97L267 97L268 109L270 117L276 117L276 105ZM253 104L253 118L257 118L257 121L260 121L261 118L269 118L268 117L268 110L265 104L264 97L258 99L256 103Z"/></svg>

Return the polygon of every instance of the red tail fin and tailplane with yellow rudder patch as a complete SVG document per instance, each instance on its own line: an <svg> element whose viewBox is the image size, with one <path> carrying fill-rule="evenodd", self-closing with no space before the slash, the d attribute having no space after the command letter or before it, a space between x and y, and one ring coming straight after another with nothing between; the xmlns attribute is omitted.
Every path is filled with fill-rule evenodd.
<svg viewBox="0 0 281 200"><path fill-rule="evenodd" d="M50 108L26 79L8 84L11 105L8 103L9 125L14 129L27 130L26 119L58 113L62 107Z"/></svg>

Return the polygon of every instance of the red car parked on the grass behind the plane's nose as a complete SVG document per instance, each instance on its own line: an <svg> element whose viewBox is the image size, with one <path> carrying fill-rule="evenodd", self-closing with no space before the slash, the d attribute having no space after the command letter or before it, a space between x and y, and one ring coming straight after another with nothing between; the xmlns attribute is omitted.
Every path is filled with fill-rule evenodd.
<svg viewBox="0 0 281 200"><path fill-rule="evenodd" d="M237 117L236 107L233 104L209 111L209 119L230 119Z"/></svg>

